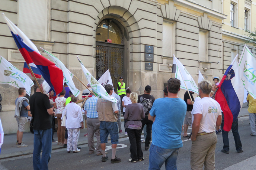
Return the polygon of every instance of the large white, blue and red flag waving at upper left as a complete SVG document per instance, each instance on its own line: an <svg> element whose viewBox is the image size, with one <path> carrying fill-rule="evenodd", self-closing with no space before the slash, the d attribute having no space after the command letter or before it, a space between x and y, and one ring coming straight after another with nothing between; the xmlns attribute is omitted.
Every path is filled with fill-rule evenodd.
<svg viewBox="0 0 256 170"><path fill-rule="evenodd" d="M54 91L54 96L63 90L63 72L49 59L42 56L29 38L2 13L17 47L27 64L34 63Z"/></svg>

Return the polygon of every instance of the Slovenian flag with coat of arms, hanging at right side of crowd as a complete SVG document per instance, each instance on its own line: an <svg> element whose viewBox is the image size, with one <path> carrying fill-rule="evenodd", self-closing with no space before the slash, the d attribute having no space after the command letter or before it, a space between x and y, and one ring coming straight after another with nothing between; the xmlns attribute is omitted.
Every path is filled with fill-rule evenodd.
<svg viewBox="0 0 256 170"><path fill-rule="evenodd" d="M226 70L215 94L215 100L220 104L224 114L224 131L231 130L232 123L237 119L243 105L244 88L237 57L238 54Z"/></svg>

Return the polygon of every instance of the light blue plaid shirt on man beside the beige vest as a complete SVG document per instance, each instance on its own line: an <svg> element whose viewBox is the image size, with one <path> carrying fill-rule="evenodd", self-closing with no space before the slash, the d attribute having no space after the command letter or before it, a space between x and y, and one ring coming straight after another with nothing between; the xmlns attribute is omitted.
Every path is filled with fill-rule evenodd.
<svg viewBox="0 0 256 170"><path fill-rule="evenodd" d="M84 104L84 110L87 112L87 117L98 118L98 112L96 111L97 100L98 98L95 96L92 96L86 100Z"/></svg>

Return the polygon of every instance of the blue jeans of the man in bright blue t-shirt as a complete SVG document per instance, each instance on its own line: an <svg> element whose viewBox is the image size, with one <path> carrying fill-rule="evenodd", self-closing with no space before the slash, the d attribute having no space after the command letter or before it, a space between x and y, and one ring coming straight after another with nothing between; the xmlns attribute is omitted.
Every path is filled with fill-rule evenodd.
<svg viewBox="0 0 256 170"><path fill-rule="evenodd" d="M165 163L166 170L177 170L176 161L179 148L164 149L151 144L148 170L160 170Z"/></svg>

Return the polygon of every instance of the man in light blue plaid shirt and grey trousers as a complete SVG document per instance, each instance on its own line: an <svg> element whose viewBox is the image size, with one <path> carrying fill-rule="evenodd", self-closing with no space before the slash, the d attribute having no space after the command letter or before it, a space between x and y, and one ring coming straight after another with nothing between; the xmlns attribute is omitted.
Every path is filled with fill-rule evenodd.
<svg viewBox="0 0 256 170"><path fill-rule="evenodd" d="M84 104L84 114L87 116L87 130L88 130L88 147L89 154L93 154L95 151L94 147L94 134L97 138L97 155L102 155L102 150L100 146L100 121L98 118L98 112L96 111L96 104L98 98L94 95L87 99ZM107 154L107 153L106 153Z"/></svg>

